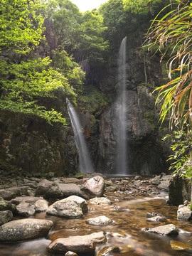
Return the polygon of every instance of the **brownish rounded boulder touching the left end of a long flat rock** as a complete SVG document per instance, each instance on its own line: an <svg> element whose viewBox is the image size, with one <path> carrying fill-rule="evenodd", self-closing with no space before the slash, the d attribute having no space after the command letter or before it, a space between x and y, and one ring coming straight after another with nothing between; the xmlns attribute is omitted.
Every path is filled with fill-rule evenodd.
<svg viewBox="0 0 192 256"><path fill-rule="evenodd" d="M62 193L58 186L58 183L53 181L48 181L44 179L36 188L36 196L43 196L43 198L60 198Z"/></svg>

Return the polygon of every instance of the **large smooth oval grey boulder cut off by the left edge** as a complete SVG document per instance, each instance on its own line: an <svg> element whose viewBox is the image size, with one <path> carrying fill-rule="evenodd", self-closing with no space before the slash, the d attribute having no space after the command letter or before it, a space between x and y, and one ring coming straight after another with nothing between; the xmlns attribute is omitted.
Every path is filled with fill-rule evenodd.
<svg viewBox="0 0 192 256"><path fill-rule="evenodd" d="M51 220L38 220L26 218L22 220L12 220L0 227L0 241L18 242L43 238L48 235L50 228L53 227Z"/></svg>

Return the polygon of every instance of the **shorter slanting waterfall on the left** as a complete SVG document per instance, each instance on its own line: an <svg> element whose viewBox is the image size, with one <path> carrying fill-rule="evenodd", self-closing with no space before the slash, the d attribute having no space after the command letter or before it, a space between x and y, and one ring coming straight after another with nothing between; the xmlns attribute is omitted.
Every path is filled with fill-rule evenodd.
<svg viewBox="0 0 192 256"><path fill-rule="evenodd" d="M73 105L67 100L68 103L68 114L70 117L70 121L73 127L73 132L75 135L75 144L78 149L79 154L79 171L82 173L91 173L94 172L92 161L90 159L90 154L87 150L87 145L85 142L85 137L82 132L82 127L80 125L80 120L78 118L77 113Z"/></svg>

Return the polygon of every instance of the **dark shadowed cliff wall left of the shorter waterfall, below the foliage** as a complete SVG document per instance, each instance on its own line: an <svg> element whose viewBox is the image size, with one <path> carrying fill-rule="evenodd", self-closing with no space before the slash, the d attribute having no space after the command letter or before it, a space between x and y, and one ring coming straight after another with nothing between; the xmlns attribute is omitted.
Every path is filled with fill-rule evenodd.
<svg viewBox="0 0 192 256"><path fill-rule="evenodd" d="M77 149L70 127L5 112L0 112L0 122L0 170L8 174L75 174Z"/></svg>

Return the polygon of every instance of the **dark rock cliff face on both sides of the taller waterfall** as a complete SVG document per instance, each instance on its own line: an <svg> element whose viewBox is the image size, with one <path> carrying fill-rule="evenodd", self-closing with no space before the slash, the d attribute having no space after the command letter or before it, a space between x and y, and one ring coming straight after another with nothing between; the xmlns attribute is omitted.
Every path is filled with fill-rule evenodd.
<svg viewBox="0 0 192 256"><path fill-rule="evenodd" d="M159 117L154 96L151 94L151 91L161 84L159 60L139 57L135 49L128 49L127 63L127 174L159 174L166 171L166 165L157 124ZM105 75L100 83L103 92L114 90L117 83L114 70L117 78L117 67L112 67L109 69L112 72L109 74L109 81L107 82ZM144 85L146 80L148 87ZM112 105L102 114L99 124L97 169L108 174L121 174L120 170L115 170L116 138L119 129L115 118L116 109L114 98Z"/></svg>

